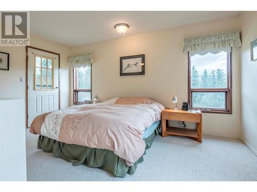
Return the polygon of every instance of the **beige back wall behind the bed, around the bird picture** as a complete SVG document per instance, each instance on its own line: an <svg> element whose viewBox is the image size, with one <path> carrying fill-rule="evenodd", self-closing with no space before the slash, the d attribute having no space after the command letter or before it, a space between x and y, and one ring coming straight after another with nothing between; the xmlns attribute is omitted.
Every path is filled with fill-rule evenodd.
<svg viewBox="0 0 257 192"><path fill-rule="evenodd" d="M178 97L178 106L188 100L188 60L182 52L182 38L235 29L240 30L239 16L74 47L71 53L94 54L93 96L101 100L151 97L172 108L173 95ZM145 75L121 77L119 58L137 54L145 54ZM204 134L240 135L240 54L240 49L233 49L233 115L204 114ZM181 89L179 95L177 89ZM72 94L72 86L70 90Z"/></svg>

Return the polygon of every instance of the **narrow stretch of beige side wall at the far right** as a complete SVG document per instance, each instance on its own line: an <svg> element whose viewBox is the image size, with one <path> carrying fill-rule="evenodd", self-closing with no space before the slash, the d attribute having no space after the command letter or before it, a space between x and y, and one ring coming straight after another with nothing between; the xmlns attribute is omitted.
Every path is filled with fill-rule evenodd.
<svg viewBox="0 0 257 192"><path fill-rule="evenodd" d="M250 60L250 41L257 36L257 12L241 14L241 140L257 155L257 61Z"/></svg>

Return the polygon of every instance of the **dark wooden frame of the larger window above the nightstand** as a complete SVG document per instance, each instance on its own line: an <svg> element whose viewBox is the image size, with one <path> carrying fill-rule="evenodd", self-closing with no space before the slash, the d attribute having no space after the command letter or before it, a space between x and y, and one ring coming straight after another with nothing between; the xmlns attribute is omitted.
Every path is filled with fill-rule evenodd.
<svg viewBox="0 0 257 192"><path fill-rule="evenodd" d="M227 53L227 88L200 88L191 89L191 58L188 52L188 102L191 110L201 110L203 113L217 113L217 114L232 114L232 48L231 52ZM214 108L193 108L192 107L192 93L194 92L222 92L225 93L226 109Z"/></svg>

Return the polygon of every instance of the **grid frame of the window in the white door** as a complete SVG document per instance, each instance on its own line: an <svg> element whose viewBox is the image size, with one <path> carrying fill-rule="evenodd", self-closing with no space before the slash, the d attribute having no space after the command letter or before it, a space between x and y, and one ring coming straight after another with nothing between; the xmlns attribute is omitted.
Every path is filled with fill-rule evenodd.
<svg viewBox="0 0 257 192"><path fill-rule="evenodd" d="M40 57L40 67L36 67L36 57ZM46 68L43 68L42 67L42 58L46 58ZM48 89L48 59L51 59L52 60L52 68L50 69L52 71L52 89ZM52 57L46 57L46 56L43 56L43 55L38 55L38 54L35 54L35 58L34 58L34 91L52 91L54 90L54 58ZM41 77L40 78L37 78L36 77L36 69L37 68L40 68L40 71L41 71ZM46 78L42 78L42 69L46 69ZM41 79L41 89L37 89L36 88L36 79ZM46 79L46 89L43 89L43 85L42 85L42 82L43 82L43 79Z"/></svg>

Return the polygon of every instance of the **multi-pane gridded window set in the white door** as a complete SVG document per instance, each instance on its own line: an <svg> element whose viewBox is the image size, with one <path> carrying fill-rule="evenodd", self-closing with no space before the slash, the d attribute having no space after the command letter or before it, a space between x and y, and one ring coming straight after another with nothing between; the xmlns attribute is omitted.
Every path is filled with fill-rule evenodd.
<svg viewBox="0 0 257 192"><path fill-rule="evenodd" d="M53 90L53 58L35 55L35 90Z"/></svg>

